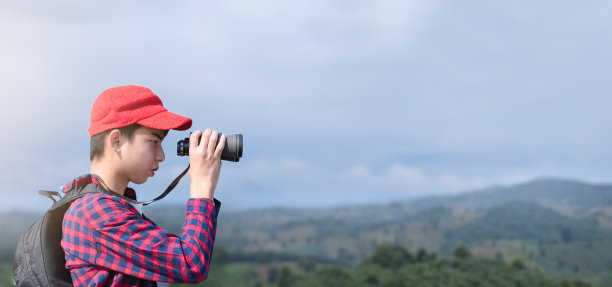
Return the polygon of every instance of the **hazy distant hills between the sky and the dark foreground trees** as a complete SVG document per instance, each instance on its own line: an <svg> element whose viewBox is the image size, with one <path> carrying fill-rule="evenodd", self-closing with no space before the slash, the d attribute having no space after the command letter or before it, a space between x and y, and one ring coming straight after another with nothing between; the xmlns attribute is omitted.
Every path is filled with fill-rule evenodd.
<svg viewBox="0 0 612 287"><path fill-rule="evenodd" d="M145 213L181 232L184 205ZM17 237L38 216L0 213L1 261L12 261ZM538 179L387 205L222 211L216 248L236 264L354 266L389 242L445 258L463 242L479 257L521 259L556 276L599 280L612 270L611 232L612 185Z"/></svg>

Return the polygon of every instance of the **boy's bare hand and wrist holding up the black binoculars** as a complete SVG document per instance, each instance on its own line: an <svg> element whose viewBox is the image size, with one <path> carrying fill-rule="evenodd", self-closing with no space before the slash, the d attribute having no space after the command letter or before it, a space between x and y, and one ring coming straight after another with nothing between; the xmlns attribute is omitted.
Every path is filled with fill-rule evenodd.
<svg viewBox="0 0 612 287"><path fill-rule="evenodd" d="M201 138L200 138L201 137ZM221 153L225 147L225 135L216 145L219 133L206 129L195 131L189 137L189 179L191 197L213 199L221 172ZM199 139L199 143L198 143Z"/></svg>

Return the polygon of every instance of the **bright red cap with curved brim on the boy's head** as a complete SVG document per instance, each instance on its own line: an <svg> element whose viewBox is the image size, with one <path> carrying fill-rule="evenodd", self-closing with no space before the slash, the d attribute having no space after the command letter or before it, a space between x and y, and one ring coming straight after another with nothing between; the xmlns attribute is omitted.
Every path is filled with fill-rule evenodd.
<svg viewBox="0 0 612 287"><path fill-rule="evenodd" d="M169 112L150 89L121 86L102 92L94 102L89 135L134 123L160 130L183 131L191 127L190 118Z"/></svg>

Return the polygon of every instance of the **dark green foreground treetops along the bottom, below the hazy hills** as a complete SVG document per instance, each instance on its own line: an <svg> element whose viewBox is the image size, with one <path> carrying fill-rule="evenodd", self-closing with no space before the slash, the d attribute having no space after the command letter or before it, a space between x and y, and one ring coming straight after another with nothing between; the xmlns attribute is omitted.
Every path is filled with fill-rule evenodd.
<svg viewBox="0 0 612 287"><path fill-rule="evenodd" d="M353 267L317 265L303 259L297 264L271 265L264 276L247 265L228 264L216 257L209 279L197 286L587 287L612 284L612 276L593 285L580 278L555 278L538 268L527 267L521 259L506 263L473 257L465 245L459 245L453 253L452 258L444 259L423 249L413 253L386 243Z"/></svg>

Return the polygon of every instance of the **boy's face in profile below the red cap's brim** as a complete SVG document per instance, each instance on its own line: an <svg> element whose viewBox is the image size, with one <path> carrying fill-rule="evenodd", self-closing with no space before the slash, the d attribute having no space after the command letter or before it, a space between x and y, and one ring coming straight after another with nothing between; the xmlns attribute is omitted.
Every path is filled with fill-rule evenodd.
<svg viewBox="0 0 612 287"><path fill-rule="evenodd" d="M165 136L165 131L148 127L134 131L131 141L122 136L121 171L129 181L141 184L155 174L165 159L161 146Z"/></svg>

